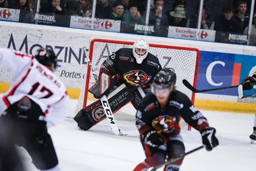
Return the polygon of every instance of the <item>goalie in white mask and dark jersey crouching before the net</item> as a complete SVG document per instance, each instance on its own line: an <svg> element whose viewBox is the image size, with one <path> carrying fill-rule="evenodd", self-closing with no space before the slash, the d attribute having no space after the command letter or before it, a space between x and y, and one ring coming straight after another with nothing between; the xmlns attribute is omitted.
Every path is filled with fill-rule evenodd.
<svg viewBox="0 0 256 171"><path fill-rule="evenodd" d="M120 48L113 53L113 55L110 55L110 57L108 57L108 59L106 59L100 66L100 73L98 77L98 85L100 86L92 86L94 89L90 88L92 91L89 90L89 92L92 94L94 94L94 92L100 92L100 94L107 96L115 88L124 83L133 98L131 100L124 101L125 103L123 105L131 101L137 110L140 103L139 99L143 98L143 96L141 97L141 92L143 92L144 96L147 92L150 92L150 83L152 83L153 77L158 73L159 69L162 69L158 58L149 53L149 48L150 46L148 42L140 39L133 44L133 48ZM100 88L104 84L102 83L102 75L107 75L111 79L115 80L115 88L110 87L104 92L100 91ZM94 97L96 97L96 93L94 94ZM96 98L100 98L100 96ZM122 100L119 99L119 101ZM111 107L111 102L109 103ZM95 109L94 106L100 106L100 102L96 101L94 104L80 110L74 117L74 120L78 123L78 127L80 129L88 130L93 125L96 125L106 118L105 115L94 116L95 114L92 112ZM119 105L118 108L117 106L115 107L115 109L112 108L114 113L122 106Z"/></svg>

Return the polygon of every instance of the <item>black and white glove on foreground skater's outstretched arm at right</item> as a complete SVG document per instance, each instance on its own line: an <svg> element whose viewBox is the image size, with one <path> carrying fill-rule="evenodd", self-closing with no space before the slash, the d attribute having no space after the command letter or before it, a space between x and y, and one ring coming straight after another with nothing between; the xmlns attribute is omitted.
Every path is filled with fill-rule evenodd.
<svg viewBox="0 0 256 171"><path fill-rule="evenodd" d="M214 147L219 145L218 139L215 137L216 129L206 127L201 131L203 145L207 151L211 151Z"/></svg>

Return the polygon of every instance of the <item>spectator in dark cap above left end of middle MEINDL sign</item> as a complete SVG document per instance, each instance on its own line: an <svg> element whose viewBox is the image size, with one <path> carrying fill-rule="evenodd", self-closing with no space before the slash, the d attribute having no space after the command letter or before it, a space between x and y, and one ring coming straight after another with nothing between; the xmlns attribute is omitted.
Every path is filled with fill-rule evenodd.
<svg viewBox="0 0 256 171"><path fill-rule="evenodd" d="M133 32L135 24L145 24L142 16L137 9L137 3L131 3L128 7L129 12L123 14L122 27L125 28L124 32Z"/></svg>

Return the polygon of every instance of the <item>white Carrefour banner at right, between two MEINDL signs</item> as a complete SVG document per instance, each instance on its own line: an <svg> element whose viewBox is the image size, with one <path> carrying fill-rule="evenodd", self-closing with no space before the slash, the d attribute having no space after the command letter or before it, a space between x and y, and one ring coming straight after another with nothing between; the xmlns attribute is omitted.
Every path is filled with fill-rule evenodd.
<svg viewBox="0 0 256 171"><path fill-rule="evenodd" d="M168 37L169 38L184 38L189 40L215 40L215 30L198 30L197 28L181 28L169 26Z"/></svg>

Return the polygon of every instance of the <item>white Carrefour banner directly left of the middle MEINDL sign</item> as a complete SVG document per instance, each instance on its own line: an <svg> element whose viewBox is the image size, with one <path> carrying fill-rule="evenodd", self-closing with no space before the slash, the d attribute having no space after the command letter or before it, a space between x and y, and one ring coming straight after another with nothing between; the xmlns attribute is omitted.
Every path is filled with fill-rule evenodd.
<svg viewBox="0 0 256 171"><path fill-rule="evenodd" d="M121 21L71 16L70 27L102 30L102 31L110 31L110 32L120 32Z"/></svg>

